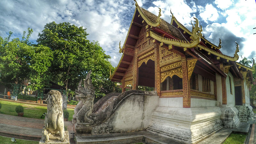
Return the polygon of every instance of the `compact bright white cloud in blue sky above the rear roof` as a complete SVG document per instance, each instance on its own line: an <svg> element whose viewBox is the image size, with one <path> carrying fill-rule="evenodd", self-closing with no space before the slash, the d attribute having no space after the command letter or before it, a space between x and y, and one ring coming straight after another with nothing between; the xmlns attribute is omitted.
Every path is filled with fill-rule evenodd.
<svg viewBox="0 0 256 144"><path fill-rule="evenodd" d="M215 21L218 19L219 14L215 7L212 4L206 4L205 9L202 13L199 14L203 20L208 23L208 21Z"/></svg>

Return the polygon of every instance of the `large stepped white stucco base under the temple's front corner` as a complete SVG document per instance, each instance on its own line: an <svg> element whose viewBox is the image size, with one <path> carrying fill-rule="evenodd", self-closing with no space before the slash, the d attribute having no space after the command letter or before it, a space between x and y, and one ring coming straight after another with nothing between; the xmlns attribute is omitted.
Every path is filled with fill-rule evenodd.
<svg viewBox="0 0 256 144"><path fill-rule="evenodd" d="M223 127L220 107L157 107L148 131L184 143L197 143Z"/></svg>

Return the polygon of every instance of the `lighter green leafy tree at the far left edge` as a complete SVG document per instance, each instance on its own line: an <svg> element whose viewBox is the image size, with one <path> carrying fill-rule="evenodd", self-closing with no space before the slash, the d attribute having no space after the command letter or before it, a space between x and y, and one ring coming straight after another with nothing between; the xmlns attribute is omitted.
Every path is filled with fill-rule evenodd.
<svg viewBox="0 0 256 144"><path fill-rule="evenodd" d="M4 83L23 84L28 80L32 90L42 89L49 85L51 76L48 68L53 58L50 48L33 46L28 41L33 30L28 28L28 34L23 32L22 40L0 37L0 80Z"/></svg>

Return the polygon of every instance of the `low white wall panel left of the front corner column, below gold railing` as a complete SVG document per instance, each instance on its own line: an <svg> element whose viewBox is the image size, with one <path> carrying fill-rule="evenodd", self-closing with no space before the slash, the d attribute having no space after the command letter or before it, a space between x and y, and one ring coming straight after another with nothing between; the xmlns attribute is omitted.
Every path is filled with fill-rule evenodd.
<svg viewBox="0 0 256 144"><path fill-rule="evenodd" d="M183 98L159 98L159 107L183 108Z"/></svg>

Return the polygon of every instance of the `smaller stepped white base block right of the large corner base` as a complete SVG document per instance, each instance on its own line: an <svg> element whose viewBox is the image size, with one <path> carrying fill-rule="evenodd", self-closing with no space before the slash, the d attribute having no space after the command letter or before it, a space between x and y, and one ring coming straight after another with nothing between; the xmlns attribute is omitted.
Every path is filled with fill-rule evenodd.
<svg viewBox="0 0 256 144"><path fill-rule="evenodd" d="M241 123L238 118L238 110L236 107L231 108L220 108L221 120L224 124L224 127L227 128L237 128Z"/></svg>

